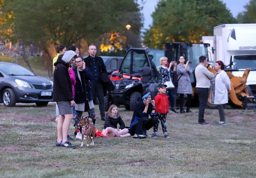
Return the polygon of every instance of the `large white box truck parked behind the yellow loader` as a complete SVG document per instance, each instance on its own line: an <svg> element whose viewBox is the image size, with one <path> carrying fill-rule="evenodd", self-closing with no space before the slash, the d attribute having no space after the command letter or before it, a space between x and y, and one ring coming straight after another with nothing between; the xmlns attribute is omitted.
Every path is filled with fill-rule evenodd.
<svg viewBox="0 0 256 178"><path fill-rule="evenodd" d="M256 94L256 24L222 24L214 27L214 36L204 36L203 43L209 43L209 60L222 60L225 65L238 68L234 76L243 76L251 68L246 84Z"/></svg>

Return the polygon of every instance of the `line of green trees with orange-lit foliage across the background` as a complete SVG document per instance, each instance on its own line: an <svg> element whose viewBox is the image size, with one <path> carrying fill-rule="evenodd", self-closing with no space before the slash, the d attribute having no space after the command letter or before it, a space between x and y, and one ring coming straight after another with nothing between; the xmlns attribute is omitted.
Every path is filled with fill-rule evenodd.
<svg viewBox="0 0 256 178"><path fill-rule="evenodd" d="M57 44L86 49L96 43L104 52L117 53L142 44L160 48L162 42L199 42L216 25L256 23L255 8L256 0L250 0L235 19L220 0L159 0L153 24L141 38L138 0L0 0L0 41L33 44L49 65Z"/></svg>

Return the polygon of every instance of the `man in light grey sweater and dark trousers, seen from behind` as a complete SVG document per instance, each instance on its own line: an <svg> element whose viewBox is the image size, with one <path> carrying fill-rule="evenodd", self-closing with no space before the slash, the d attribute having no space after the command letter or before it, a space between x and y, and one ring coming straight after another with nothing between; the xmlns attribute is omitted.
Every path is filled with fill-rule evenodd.
<svg viewBox="0 0 256 178"><path fill-rule="evenodd" d="M199 98L199 112L198 112L198 125L209 125L204 120L204 110L207 105L209 88L211 86L211 79L214 74L211 73L205 66L207 60L205 56L199 57L200 64L195 69L196 75L196 92Z"/></svg>

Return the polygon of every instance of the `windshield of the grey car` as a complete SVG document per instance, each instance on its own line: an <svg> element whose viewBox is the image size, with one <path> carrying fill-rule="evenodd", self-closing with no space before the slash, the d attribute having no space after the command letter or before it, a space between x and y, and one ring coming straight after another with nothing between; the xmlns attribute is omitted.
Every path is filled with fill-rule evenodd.
<svg viewBox="0 0 256 178"><path fill-rule="evenodd" d="M13 64L0 64L0 70L6 75L30 75L35 76L34 73L30 72L28 69L21 67L20 65Z"/></svg>

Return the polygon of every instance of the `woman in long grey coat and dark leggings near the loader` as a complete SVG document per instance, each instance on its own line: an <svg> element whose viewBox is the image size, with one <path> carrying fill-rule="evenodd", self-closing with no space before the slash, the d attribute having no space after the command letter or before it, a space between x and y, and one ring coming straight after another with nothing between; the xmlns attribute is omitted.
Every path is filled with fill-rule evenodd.
<svg viewBox="0 0 256 178"><path fill-rule="evenodd" d="M192 97L192 86L190 81L190 74L193 73L193 70L188 66L189 61L185 63L185 58L180 56L179 64L177 65L176 71L178 74L178 89L177 93L180 94L179 104L180 104L180 113L185 113L183 110L183 98L184 94L187 94L187 102L186 102L186 113L191 113L190 104Z"/></svg>

